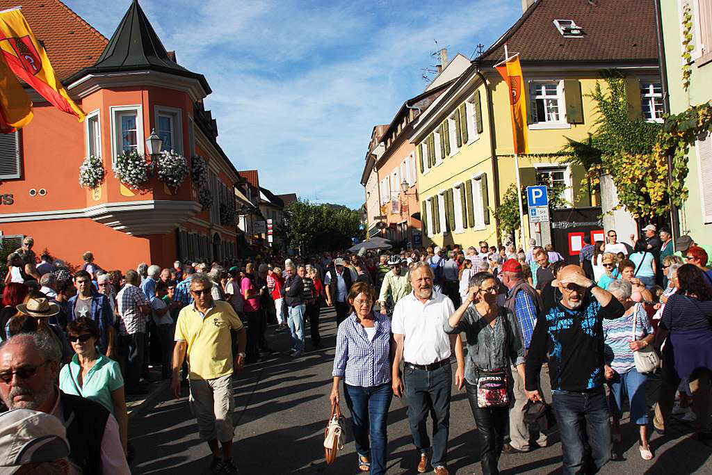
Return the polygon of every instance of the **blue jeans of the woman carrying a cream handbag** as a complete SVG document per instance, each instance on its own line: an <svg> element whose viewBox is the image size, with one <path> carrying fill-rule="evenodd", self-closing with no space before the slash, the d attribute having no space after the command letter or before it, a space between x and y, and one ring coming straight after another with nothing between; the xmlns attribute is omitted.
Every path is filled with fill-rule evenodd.
<svg viewBox="0 0 712 475"><path fill-rule="evenodd" d="M369 457L371 475L385 474L388 408L393 399L391 383L372 387L351 386L344 383L344 397L351 411L357 454Z"/></svg>

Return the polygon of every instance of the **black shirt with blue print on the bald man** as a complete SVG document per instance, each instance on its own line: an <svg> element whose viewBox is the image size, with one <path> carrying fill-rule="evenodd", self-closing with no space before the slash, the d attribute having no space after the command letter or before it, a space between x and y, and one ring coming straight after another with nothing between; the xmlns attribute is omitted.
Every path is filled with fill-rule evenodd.
<svg viewBox="0 0 712 475"><path fill-rule="evenodd" d="M589 391L603 385L604 318L619 318L624 308L617 298L602 307L590 293L581 307L557 303L540 313L525 365L526 389L536 390L542 363L549 362L551 389Z"/></svg>

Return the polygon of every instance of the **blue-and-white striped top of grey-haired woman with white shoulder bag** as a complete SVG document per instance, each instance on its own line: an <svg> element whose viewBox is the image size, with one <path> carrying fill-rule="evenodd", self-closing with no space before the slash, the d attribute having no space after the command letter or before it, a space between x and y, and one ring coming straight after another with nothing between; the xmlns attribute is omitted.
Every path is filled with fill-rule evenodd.
<svg viewBox="0 0 712 475"><path fill-rule="evenodd" d="M635 357L629 343L633 341L633 314L637 313L635 339L640 340L653 333L648 314L642 304L637 303L634 310L622 317L603 320L604 361L619 375L635 368Z"/></svg>

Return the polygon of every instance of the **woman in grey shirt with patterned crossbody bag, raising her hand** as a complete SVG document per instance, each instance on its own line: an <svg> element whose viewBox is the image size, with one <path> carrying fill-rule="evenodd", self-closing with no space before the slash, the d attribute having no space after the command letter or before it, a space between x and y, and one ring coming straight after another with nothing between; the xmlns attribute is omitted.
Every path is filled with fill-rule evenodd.
<svg viewBox="0 0 712 475"><path fill-rule="evenodd" d="M505 383L508 367L514 365L524 380L524 347L511 310L497 303L498 280L489 272L476 273L466 299L443 325L445 333L467 335L465 387L477 424L482 473L499 474L504 433L509 426L509 404L478 397L481 377L500 377ZM483 380L484 381L484 380Z"/></svg>

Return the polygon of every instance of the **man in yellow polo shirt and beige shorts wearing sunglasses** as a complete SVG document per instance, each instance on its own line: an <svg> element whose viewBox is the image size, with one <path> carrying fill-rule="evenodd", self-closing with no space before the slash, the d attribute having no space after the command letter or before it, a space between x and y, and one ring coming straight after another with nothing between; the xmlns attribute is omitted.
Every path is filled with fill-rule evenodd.
<svg viewBox="0 0 712 475"><path fill-rule="evenodd" d="M239 374L244 367L247 337L232 306L213 300L212 286L204 274L196 274L190 281L193 303L178 315L171 389L175 397L181 397L180 370L187 354L190 406L198 422L200 438L213 453L211 473L236 474L238 470L232 461L232 374L233 368ZM238 332L239 353L234 363L231 329ZM218 441L222 445L222 456Z"/></svg>

